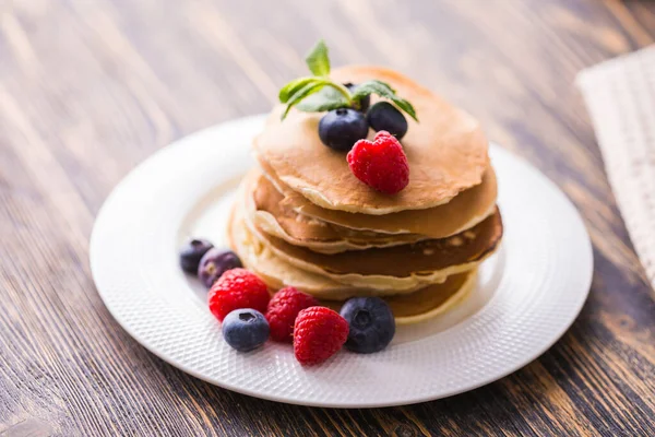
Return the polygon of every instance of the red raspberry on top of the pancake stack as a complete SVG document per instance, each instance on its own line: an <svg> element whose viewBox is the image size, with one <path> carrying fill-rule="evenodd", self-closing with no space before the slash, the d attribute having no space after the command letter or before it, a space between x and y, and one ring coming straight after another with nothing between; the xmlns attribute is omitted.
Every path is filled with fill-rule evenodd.
<svg viewBox="0 0 655 437"><path fill-rule="evenodd" d="M384 130L372 142L357 141L347 160L355 177L378 191L395 194L409 184L409 165L403 146Z"/></svg>

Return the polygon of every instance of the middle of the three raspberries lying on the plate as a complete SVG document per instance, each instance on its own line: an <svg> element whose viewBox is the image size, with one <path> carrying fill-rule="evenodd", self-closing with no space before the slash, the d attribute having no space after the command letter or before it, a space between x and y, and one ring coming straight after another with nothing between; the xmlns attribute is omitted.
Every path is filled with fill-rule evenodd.
<svg viewBox="0 0 655 437"><path fill-rule="evenodd" d="M301 309L319 305L319 302L294 287L282 288L269 303L266 320L271 326L271 339L278 342L291 342L294 322Z"/></svg>

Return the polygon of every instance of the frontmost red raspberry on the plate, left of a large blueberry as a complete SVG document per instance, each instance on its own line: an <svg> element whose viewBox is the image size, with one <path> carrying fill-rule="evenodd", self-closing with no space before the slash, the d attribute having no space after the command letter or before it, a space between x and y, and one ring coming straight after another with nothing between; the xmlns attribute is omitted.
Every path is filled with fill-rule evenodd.
<svg viewBox="0 0 655 437"><path fill-rule="evenodd" d="M348 322L325 307L309 307L298 314L294 326L294 353L302 365L330 358L348 339Z"/></svg>

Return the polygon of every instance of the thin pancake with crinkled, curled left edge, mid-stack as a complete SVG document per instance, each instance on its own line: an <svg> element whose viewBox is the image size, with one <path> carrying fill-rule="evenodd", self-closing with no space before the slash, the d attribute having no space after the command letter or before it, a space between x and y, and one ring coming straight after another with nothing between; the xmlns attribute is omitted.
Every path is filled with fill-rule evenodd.
<svg viewBox="0 0 655 437"><path fill-rule="evenodd" d="M248 214L257 227L290 245L321 253L364 250L416 243L426 237L416 234L389 235L355 231L299 214L283 204L284 196L261 173L248 192Z"/></svg>

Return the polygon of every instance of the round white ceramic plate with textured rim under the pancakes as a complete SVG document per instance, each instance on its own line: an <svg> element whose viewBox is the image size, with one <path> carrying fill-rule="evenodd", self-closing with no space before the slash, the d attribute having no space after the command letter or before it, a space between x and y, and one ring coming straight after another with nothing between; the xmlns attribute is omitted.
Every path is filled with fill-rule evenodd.
<svg viewBox="0 0 655 437"><path fill-rule="evenodd" d="M116 320L141 344L209 382L258 398L370 408L448 397L495 381L550 347L577 316L593 270L592 246L571 202L546 177L497 145L505 235L471 298L433 321L400 327L372 355L341 352L303 368L290 345L231 350L206 292L178 267L189 236L222 244L250 141L263 117L187 137L138 166L98 214L91 267Z"/></svg>

